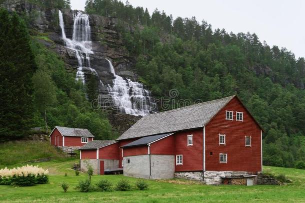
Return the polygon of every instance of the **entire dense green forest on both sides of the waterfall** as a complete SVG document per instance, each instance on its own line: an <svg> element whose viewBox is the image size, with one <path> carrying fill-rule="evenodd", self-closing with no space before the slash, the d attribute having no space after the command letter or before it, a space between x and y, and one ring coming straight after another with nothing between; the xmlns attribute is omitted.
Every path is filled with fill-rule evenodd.
<svg viewBox="0 0 305 203"><path fill-rule="evenodd" d="M66 0L28 2L70 7ZM128 2L88 0L85 11L118 19L123 48L156 99L172 99L171 89L178 90L174 99L192 101L237 94L264 129L263 164L305 165L304 58L269 47L255 34L213 30L195 17L173 19L157 9L150 15ZM47 36L32 31L26 20L0 10L0 141L55 125L88 128L96 139L116 137L106 113L90 108L88 87L38 42Z"/></svg>

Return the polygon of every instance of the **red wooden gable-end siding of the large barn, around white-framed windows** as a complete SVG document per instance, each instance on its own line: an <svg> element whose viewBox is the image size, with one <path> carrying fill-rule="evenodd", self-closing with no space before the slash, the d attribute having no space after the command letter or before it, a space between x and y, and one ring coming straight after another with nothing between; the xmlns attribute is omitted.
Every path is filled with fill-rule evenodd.
<svg viewBox="0 0 305 203"><path fill-rule="evenodd" d="M225 120L225 110L233 111L233 120ZM236 111L243 112L243 121L236 121ZM218 134L225 134L225 145L219 145ZM245 136L251 136L251 147L245 147ZM227 163L219 163L219 153L227 153ZM205 169L261 171L260 153L260 128L238 99L233 98L205 126ZM183 156L183 164L184 161Z"/></svg>

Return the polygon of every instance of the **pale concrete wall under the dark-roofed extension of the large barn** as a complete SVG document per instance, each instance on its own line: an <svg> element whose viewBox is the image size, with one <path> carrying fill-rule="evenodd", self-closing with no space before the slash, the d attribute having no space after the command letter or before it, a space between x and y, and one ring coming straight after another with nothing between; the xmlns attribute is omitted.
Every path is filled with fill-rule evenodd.
<svg viewBox="0 0 305 203"><path fill-rule="evenodd" d="M129 163L127 162L129 159ZM174 156L173 155L149 155L123 157L123 170L125 176L140 177L146 179L173 178ZM151 175L150 175L151 169Z"/></svg>

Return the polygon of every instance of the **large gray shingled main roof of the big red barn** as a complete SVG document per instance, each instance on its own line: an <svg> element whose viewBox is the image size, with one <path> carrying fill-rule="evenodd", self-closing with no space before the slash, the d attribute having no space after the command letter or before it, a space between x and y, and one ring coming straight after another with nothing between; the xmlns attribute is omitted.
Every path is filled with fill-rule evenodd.
<svg viewBox="0 0 305 203"><path fill-rule="evenodd" d="M143 116L116 140L203 127L235 95Z"/></svg>

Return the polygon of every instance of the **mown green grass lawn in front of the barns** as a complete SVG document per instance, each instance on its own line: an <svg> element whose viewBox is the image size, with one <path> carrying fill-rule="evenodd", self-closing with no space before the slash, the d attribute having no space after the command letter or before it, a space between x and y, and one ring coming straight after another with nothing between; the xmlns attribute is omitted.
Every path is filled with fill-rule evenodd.
<svg viewBox="0 0 305 203"><path fill-rule="evenodd" d="M74 189L77 181L86 174L75 176L70 166L78 160L47 161L39 166L50 171L49 183L30 187L0 185L0 202L305 202L305 170L265 166L264 170L275 174L283 173L293 182L287 185L203 185L191 181L147 180L148 190L88 192ZM67 176L64 174L67 173ZM92 181L101 178L116 183L120 179L135 182L136 178L123 175L94 175ZM67 182L66 193L60 187ZM177 182L177 183L173 183ZM182 184L183 183L183 184Z"/></svg>

